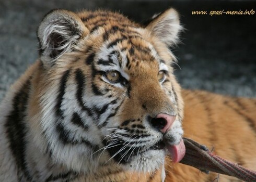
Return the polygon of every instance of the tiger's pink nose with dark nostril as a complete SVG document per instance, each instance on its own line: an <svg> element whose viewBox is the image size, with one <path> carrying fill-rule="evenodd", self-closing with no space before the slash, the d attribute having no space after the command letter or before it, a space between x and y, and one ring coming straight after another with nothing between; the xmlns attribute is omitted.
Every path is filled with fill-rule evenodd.
<svg viewBox="0 0 256 182"><path fill-rule="evenodd" d="M168 132L176 119L176 115L169 115L165 113L157 114L156 118L150 118L150 124L158 129L161 133Z"/></svg>

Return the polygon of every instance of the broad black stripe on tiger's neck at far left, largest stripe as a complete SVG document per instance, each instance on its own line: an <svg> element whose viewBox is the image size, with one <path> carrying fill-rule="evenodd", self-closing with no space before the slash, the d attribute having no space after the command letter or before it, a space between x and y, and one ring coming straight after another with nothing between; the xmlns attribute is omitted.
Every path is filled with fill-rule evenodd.
<svg viewBox="0 0 256 182"><path fill-rule="evenodd" d="M9 147L14 155L17 163L18 176L27 181L32 180L32 175L29 173L26 161L26 133L27 127L24 123L26 116L27 103L29 97L30 80L28 80L13 99L13 111L6 117L6 134L9 139ZM20 172L23 172L20 174ZM15 174L13 174L15 175Z"/></svg>

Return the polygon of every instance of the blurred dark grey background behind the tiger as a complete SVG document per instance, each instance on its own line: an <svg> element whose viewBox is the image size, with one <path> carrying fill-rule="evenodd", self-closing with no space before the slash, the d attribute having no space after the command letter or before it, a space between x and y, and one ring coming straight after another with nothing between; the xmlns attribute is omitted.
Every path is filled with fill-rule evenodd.
<svg viewBox="0 0 256 182"><path fill-rule="evenodd" d="M51 9L107 8L142 22L169 7L179 11L187 29L182 44L172 49L182 87L256 97L256 14L192 15L192 10L256 11L255 1L0 0L0 100L37 59L37 26Z"/></svg>

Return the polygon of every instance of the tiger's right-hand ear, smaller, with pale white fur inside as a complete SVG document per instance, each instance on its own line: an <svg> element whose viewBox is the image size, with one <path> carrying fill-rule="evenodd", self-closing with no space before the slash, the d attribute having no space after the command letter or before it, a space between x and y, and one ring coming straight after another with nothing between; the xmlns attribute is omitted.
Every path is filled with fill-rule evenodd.
<svg viewBox="0 0 256 182"><path fill-rule="evenodd" d="M173 8L153 16L145 25L146 29L168 46L173 46L179 41L179 32L182 30L182 26L178 12Z"/></svg>

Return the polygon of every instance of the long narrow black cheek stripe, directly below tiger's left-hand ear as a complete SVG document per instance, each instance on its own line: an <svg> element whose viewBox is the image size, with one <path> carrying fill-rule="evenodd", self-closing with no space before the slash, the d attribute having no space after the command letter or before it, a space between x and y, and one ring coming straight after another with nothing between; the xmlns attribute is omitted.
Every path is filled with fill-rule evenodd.
<svg viewBox="0 0 256 182"><path fill-rule="evenodd" d="M70 70L66 70L61 78L61 82L60 82L60 88L59 88L59 95L57 96L57 100L56 100L56 114L58 116L63 116L63 110L61 110L61 104L63 101L63 96L65 94L65 89L66 89L66 83L67 83L67 79L69 76Z"/></svg>

